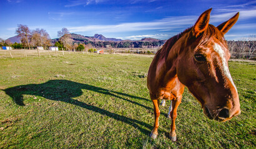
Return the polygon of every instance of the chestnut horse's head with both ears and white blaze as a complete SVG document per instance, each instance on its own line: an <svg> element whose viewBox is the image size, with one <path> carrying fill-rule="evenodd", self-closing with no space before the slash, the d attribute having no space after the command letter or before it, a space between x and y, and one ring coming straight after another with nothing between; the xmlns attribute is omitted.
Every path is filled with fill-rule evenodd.
<svg viewBox="0 0 256 149"><path fill-rule="evenodd" d="M237 88L228 67L230 52L224 39L239 13L215 27L209 24L211 10L202 13L180 38L176 70L179 81L202 104L204 114L223 122L240 114Z"/></svg>

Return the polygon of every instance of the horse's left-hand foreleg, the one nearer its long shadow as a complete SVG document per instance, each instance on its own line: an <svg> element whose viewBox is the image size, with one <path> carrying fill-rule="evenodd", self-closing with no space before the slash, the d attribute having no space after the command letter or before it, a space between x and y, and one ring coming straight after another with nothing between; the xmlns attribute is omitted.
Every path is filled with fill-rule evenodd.
<svg viewBox="0 0 256 149"><path fill-rule="evenodd" d="M154 104L154 116L155 116L155 123L154 123L154 128L151 131L150 137L155 139L157 138L157 129L159 127L159 116L160 116L160 110L159 110L159 100L154 99L152 100L153 104Z"/></svg>

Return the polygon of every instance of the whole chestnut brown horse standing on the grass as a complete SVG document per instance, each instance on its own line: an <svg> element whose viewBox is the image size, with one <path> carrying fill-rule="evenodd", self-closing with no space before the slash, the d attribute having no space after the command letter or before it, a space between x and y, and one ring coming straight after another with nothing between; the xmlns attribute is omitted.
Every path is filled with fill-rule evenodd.
<svg viewBox="0 0 256 149"><path fill-rule="evenodd" d="M155 123L150 137L157 137L159 99L172 100L170 137L176 140L175 119L184 87L197 98L209 119L225 120L240 114L239 96L229 73L230 53L224 34L237 22L239 12L217 27L209 24L209 9L193 27L167 40L156 53L147 76L154 104Z"/></svg>

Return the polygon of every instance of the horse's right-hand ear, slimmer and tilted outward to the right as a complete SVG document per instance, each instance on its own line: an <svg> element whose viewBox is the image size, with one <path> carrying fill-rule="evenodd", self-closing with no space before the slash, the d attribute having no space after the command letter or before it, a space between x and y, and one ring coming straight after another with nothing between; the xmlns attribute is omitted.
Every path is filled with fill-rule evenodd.
<svg viewBox="0 0 256 149"><path fill-rule="evenodd" d="M217 29L219 29L222 34L226 34L229 29L231 29L231 27L235 24L235 22L237 22L237 19L239 19L239 12L237 12L235 16L231 17L226 22L223 22L222 24L217 26Z"/></svg>

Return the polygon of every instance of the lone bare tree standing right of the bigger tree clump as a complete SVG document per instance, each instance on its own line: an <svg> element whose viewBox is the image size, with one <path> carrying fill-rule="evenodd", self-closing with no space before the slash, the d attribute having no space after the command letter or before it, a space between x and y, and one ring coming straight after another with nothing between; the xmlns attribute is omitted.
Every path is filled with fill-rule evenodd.
<svg viewBox="0 0 256 149"><path fill-rule="evenodd" d="M57 35L60 37L59 40L63 43L65 48L72 48L72 39L69 30L62 28L57 32Z"/></svg>

